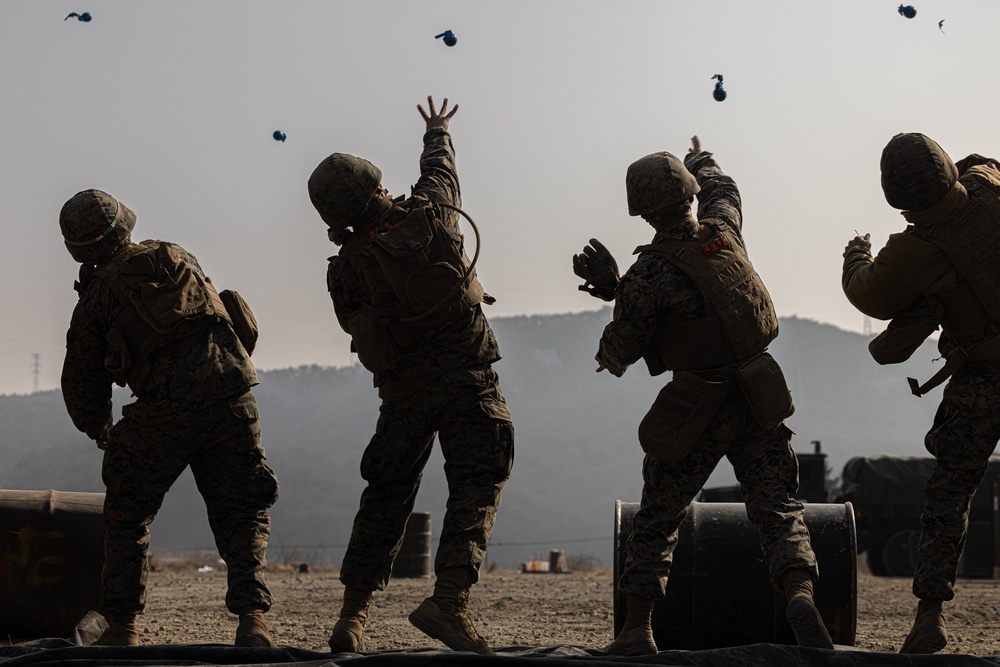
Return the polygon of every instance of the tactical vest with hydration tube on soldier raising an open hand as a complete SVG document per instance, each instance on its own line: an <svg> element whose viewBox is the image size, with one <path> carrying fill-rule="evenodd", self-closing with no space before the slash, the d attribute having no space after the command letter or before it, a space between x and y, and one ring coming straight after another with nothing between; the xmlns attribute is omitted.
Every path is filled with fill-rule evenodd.
<svg viewBox="0 0 1000 667"><path fill-rule="evenodd" d="M456 321L471 322L473 308L484 301L464 236L449 231L443 215L434 203L405 200L340 251L368 291L372 314L404 347Z"/></svg>

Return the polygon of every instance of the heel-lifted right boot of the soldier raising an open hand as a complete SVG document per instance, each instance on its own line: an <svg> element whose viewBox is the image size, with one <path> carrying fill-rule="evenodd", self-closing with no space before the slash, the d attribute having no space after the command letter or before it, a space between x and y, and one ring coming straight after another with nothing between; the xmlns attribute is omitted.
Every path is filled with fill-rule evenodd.
<svg viewBox="0 0 1000 667"><path fill-rule="evenodd" d="M410 623L425 635L444 642L453 651L494 655L469 618L470 585L465 570L442 570L434 583L434 595L410 612Z"/></svg>

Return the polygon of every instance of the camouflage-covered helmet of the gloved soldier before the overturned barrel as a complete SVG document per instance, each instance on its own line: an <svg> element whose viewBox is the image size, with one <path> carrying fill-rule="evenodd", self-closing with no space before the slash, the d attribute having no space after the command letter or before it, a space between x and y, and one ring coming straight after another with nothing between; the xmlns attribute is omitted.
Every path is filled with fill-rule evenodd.
<svg viewBox="0 0 1000 667"><path fill-rule="evenodd" d="M646 215L680 204L701 191L684 163L667 152L652 153L629 165L625 175L628 214Z"/></svg>

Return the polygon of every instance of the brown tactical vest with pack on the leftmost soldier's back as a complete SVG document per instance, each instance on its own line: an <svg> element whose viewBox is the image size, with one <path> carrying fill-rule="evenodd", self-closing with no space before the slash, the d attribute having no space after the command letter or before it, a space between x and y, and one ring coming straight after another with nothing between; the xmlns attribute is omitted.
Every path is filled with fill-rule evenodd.
<svg viewBox="0 0 1000 667"><path fill-rule="evenodd" d="M152 359L219 321L230 322L218 292L178 245L143 241L94 270L124 306L107 334L111 379L140 396Z"/></svg>

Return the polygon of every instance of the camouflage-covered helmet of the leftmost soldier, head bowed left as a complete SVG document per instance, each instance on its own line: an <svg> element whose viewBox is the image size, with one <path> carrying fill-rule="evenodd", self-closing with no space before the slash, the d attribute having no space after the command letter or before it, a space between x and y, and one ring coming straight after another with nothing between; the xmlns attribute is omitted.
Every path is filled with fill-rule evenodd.
<svg viewBox="0 0 1000 667"><path fill-rule="evenodd" d="M63 204L59 228L73 259L98 264L131 236L135 213L106 192L84 190Z"/></svg>

